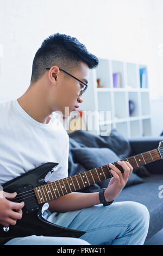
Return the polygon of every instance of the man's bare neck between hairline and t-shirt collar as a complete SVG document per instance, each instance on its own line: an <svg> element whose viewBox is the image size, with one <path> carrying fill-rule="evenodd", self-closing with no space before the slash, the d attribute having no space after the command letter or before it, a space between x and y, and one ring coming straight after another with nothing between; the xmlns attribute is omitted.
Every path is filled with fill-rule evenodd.
<svg viewBox="0 0 163 256"><path fill-rule="evenodd" d="M38 86L29 87L26 93L17 99L20 106L39 123L47 124L52 112L47 107L46 95L40 92Z"/></svg>

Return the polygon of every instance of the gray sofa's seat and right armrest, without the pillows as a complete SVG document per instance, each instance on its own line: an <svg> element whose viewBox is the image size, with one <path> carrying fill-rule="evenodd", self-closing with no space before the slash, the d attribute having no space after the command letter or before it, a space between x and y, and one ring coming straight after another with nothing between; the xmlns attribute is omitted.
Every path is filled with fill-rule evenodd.
<svg viewBox="0 0 163 256"><path fill-rule="evenodd" d="M158 148L160 137L141 137L129 139L132 155ZM150 223L147 239L163 228L163 198L159 198L159 186L163 185L163 160L145 165L150 176L143 176L143 183L126 187L116 198L116 202L131 200L147 206L150 214Z"/></svg>

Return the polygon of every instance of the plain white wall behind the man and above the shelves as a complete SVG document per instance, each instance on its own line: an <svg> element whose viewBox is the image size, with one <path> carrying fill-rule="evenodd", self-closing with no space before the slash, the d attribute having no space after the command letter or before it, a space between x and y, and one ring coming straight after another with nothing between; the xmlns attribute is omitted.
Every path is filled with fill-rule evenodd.
<svg viewBox="0 0 163 256"><path fill-rule="evenodd" d="M25 92L37 48L60 32L98 57L148 65L153 109L163 97L162 8L162 0L0 0L0 101Z"/></svg>

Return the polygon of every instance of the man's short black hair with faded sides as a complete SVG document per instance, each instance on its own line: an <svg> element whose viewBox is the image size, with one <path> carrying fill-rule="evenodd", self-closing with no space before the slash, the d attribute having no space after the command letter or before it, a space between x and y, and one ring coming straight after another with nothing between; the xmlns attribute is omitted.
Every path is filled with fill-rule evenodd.
<svg viewBox="0 0 163 256"><path fill-rule="evenodd" d="M72 71L79 62L86 63L90 69L96 68L98 58L87 51L85 45L76 38L56 33L48 36L37 50L32 66L31 83L35 83L53 65L59 65L67 72Z"/></svg>

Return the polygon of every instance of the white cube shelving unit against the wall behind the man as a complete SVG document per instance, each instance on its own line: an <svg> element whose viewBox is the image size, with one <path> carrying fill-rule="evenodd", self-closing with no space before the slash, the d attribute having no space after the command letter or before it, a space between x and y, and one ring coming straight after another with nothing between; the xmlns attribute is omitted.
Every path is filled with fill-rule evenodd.
<svg viewBox="0 0 163 256"><path fill-rule="evenodd" d="M98 67L90 70L88 88L79 107L79 110L96 116L95 124L92 127L87 125L87 131L107 136L111 129L116 128L127 138L152 135L148 81L147 88L140 86L139 69L142 68L147 71L146 65L99 59ZM120 88L114 87L114 73L120 73ZM102 88L97 88L97 78ZM131 114L129 101L134 103ZM101 117L102 111L104 118ZM87 120L88 115L85 114L86 124Z"/></svg>

